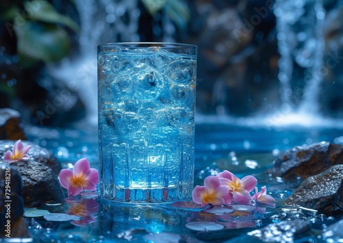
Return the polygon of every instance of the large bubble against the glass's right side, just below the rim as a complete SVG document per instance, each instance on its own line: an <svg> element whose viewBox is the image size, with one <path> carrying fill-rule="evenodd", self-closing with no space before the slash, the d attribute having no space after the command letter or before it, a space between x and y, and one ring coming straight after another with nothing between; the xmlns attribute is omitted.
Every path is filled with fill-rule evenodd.
<svg viewBox="0 0 343 243"><path fill-rule="evenodd" d="M168 65L165 75L175 84L189 84L195 72L192 60L176 60Z"/></svg>

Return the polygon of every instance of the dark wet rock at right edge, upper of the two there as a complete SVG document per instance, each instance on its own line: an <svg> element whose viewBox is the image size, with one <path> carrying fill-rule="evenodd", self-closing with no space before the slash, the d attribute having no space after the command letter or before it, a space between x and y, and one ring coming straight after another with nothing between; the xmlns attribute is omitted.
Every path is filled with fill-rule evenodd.
<svg viewBox="0 0 343 243"><path fill-rule="evenodd" d="M338 164L343 164L342 145L329 142L313 143L283 152L267 173L283 178L307 178Z"/></svg>

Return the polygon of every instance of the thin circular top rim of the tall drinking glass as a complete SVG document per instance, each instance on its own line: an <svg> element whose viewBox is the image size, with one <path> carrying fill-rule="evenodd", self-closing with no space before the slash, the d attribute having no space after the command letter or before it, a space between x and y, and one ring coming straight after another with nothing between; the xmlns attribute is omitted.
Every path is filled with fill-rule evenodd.
<svg viewBox="0 0 343 243"><path fill-rule="evenodd" d="M118 43L102 43L97 45L101 47L109 46L132 46L132 47L152 47L153 45L161 45L161 47L193 47L198 48L197 45L188 44L188 43L171 43L171 42L118 42Z"/></svg>

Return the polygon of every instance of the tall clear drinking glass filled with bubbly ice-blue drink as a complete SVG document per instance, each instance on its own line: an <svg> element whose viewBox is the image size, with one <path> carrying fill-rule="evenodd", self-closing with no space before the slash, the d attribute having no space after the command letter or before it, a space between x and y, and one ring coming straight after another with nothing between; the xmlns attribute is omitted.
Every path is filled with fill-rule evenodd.
<svg viewBox="0 0 343 243"><path fill-rule="evenodd" d="M191 198L195 45L98 46L99 191L102 198L164 203Z"/></svg>

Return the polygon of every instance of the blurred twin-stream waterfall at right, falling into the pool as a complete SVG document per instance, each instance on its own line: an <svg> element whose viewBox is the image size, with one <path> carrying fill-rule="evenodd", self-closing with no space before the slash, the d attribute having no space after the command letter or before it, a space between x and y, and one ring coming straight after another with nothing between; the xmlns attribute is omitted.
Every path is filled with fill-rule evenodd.
<svg viewBox="0 0 343 243"><path fill-rule="evenodd" d="M281 110L316 117L324 51L322 0L276 0L274 14Z"/></svg>

